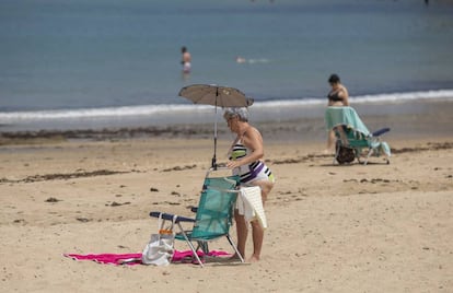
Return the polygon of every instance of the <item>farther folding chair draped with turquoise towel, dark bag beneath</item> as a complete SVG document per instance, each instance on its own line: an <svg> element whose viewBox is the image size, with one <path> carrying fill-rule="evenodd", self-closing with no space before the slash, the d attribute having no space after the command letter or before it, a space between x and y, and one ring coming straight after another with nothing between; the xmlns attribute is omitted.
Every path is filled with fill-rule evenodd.
<svg viewBox="0 0 453 293"><path fill-rule="evenodd" d="M360 157L364 149L368 149L368 154L363 165L367 165L372 154L375 156L385 155L386 163L390 164L391 149L380 138L390 131L390 128L371 133L352 107L328 107L325 113L325 121L327 129L335 131L334 164L335 161L339 164L349 164L356 159L362 163Z"/></svg>

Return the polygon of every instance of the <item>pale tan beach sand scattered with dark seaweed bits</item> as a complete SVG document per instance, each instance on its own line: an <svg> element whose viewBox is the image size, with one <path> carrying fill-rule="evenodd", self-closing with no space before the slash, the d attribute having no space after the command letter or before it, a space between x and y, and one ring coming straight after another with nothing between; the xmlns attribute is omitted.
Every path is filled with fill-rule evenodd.
<svg viewBox="0 0 453 293"><path fill-rule="evenodd" d="M392 127L390 165L333 165L322 118L257 124L277 177L262 260L202 269L62 254L140 253L156 230L150 211L190 215L213 153L209 126L133 138L3 136L0 291L452 292L452 104L362 116L372 130ZM231 139L220 126L219 162ZM210 248L231 251L225 239Z"/></svg>

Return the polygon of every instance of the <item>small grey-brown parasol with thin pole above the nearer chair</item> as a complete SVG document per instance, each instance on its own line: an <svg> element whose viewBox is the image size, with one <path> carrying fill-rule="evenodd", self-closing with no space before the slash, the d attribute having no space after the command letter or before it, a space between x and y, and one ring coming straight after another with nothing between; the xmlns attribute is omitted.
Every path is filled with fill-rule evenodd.
<svg viewBox="0 0 453 293"><path fill-rule="evenodd" d="M216 168L217 153L217 108L218 107L248 107L253 104L253 98L246 97L243 92L229 86L216 84L193 84L181 89L179 96L190 99L194 104L214 106L214 153L212 156L211 167Z"/></svg>

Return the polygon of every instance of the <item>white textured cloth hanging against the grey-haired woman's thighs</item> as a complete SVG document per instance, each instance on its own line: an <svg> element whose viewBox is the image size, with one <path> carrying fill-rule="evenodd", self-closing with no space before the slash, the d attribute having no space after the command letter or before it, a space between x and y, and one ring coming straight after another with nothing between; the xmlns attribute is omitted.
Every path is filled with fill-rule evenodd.
<svg viewBox="0 0 453 293"><path fill-rule="evenodd" d="M245 221L258 220L263 228L267 228L266 214L263 207L262 189L258 186L241 187L236 200L236 208Z"/></svg>

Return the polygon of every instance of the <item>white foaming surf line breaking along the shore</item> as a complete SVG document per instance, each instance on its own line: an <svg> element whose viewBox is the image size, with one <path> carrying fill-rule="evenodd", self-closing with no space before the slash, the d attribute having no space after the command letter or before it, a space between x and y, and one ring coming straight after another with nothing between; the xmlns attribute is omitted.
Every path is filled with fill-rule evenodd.
<svg viewBox="0 0 453 293"><path fill-rule="evenodd" d="M452 91L453 92L453 91ZM450 93L450 92L449 92ZM392 95L391 95L392 96ZM373 99L373 97L375 97ZM453 94L430 96L429 92L407 98L404 94L382 99L379 95L363 98L351 97L351 106L359 115L409 115L427 113L427 107L443 104L451 107ZM254 122L281 122L323 118L325 103L322 99L294 99L256 102L248 109ZM222 122L222 108L217 109L217 120ZM143 105L117 108L74 110L48 110L36 113L0 113L0 132L68 132L103 129L162 129L182 126L209 125L216 120L213 106L208 105Z"/></svg>

